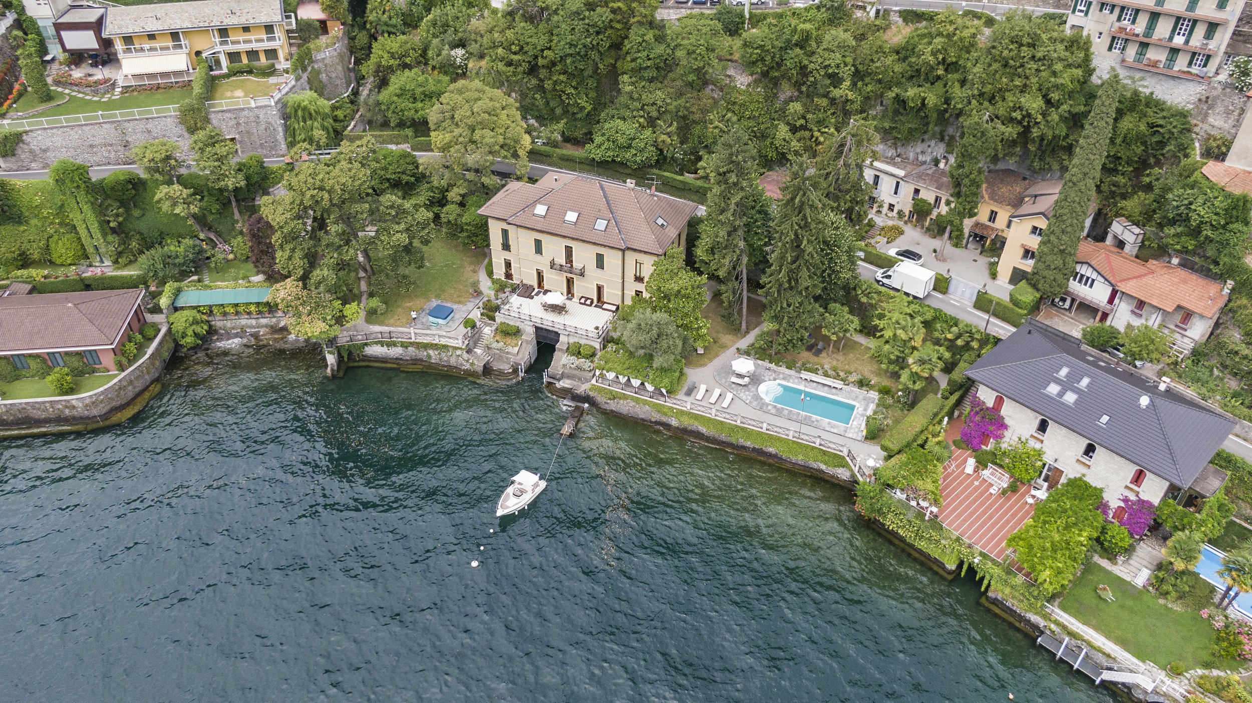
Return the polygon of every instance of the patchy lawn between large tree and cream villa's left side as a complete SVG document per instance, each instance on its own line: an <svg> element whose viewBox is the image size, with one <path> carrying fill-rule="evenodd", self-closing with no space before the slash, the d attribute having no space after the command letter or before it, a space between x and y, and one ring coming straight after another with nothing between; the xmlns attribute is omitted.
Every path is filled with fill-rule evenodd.
<svg viewBox="0 0 1252 703"><path fill-rule="evenodd" d="M487 256L483 249L468 246L447 238L436 238L426 248L426 266L402 271L408 280L387 280L379 291L371 291L387 304L382 315L369 315L367 321L378 325L406 326L409 310L421 310L437 298L449 303L468 303L473 296L470 284L478 280L478 266Z"/></svg>

